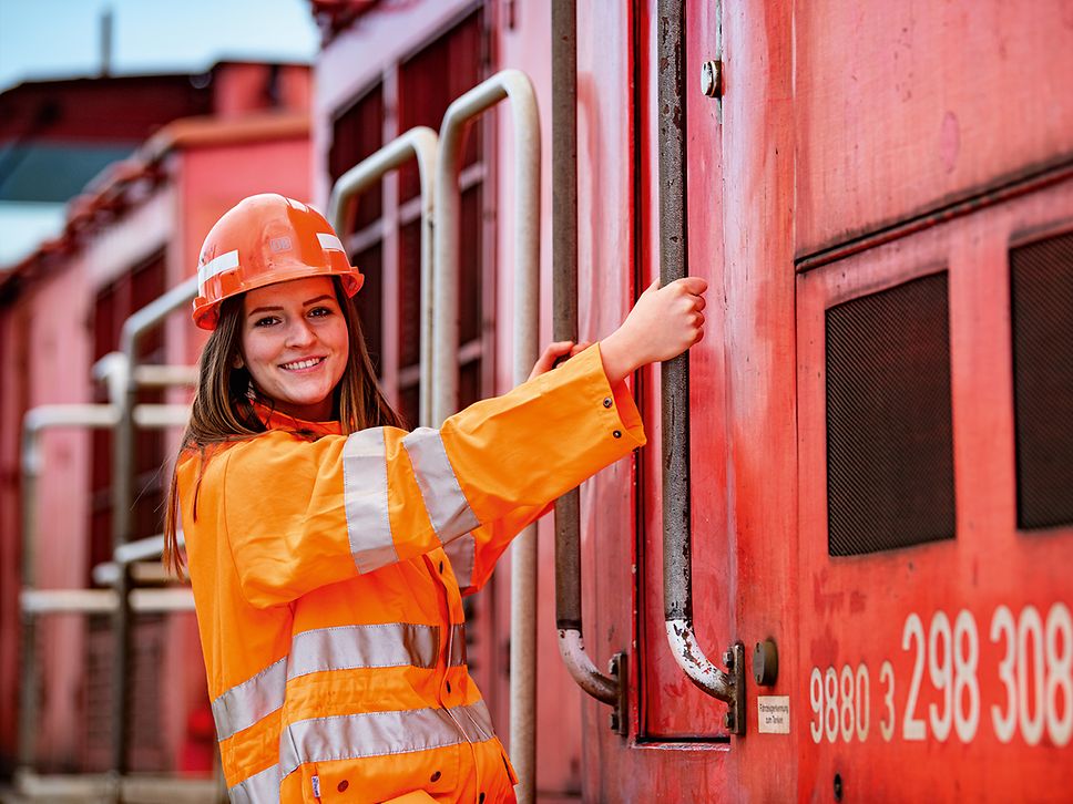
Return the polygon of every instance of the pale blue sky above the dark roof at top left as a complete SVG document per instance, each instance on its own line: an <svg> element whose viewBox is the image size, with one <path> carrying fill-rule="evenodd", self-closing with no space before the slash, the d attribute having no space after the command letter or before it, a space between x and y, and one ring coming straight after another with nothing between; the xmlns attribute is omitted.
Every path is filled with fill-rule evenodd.
<svg viewBox="0 0 1073 804"><path fill-rule="evenodd" d="M310 62L308 0L0 0L0 91L94 75L112 9L112 72L187 72L221 59Z"/></svg>

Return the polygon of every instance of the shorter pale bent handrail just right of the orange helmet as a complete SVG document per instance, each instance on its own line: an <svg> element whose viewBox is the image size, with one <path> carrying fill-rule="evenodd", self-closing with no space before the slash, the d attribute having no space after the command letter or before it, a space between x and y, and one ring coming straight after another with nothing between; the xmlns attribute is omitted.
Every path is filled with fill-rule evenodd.
<svg viewBox="0 0 1073 804"><path fill-rule="evenodd" d="M389 171L401 167L411 158L417 161L421 183L421 395L418 423L425 427L432 425L432 210L437 151L436 132L428 126L415 126L339 176L328 202L328 220L341 236L349 200Z"/></svg>

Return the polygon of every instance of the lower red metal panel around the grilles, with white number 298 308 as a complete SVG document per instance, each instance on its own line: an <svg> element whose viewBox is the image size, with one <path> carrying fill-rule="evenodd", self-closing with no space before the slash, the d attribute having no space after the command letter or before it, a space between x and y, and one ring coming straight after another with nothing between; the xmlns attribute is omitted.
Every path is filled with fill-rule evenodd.
<svg viewBox="0 0 1073 804"><path fill-rule="evenodd" d="M897 780L906 800L1067 795L1073 528L1016 532L1008 252L1024 233L1067 230L1071 210L1066 181L798 282L804 663L794 707L803 793L830 790L839 773L847 790ZM824 310L943 267L956 539L831 559ZM852 677L845 687L844 673Z"/></svg>

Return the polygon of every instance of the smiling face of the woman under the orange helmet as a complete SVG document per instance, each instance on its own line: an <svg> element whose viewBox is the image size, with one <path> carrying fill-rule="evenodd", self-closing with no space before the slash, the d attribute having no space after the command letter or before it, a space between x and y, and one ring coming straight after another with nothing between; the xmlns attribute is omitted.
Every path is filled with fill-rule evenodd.
<svg viewBox="0 0 1073 804"><path fill-rule="evenodd" d="M349 355L347 324L327 277L268 285L243 299L242 351L276 410L320 422Z"/></svg>

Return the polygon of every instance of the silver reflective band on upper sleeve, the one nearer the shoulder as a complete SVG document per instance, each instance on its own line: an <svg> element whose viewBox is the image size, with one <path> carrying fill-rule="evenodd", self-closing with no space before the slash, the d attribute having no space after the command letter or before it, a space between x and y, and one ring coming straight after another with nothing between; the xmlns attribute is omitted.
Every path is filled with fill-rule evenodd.
<svg viewBox="0 0 1073 804"><path fill-rule="evenodd" d="M388 519L388 468L381 427L347 436L343 492L350 553L358 571L371 573L398 561Z"/></svg>

